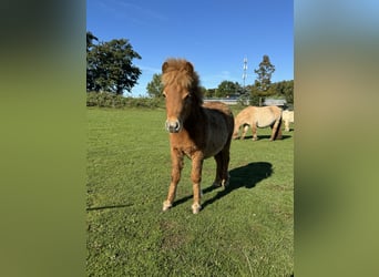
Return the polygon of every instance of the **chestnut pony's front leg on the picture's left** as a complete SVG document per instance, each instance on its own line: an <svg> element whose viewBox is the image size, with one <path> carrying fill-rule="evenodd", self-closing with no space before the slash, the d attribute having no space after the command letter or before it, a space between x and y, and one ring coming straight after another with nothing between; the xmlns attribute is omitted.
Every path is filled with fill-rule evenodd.
<svg viewBox="0 0 379 277"><path fill-rule="evenodd" d="M181 173L183 170L183 154L178 151L172 150L171 151L171 161L172 161L172 168L171 168L171 183L168 187L167 199L163 202L163 211L167 211L173 206L173 202L176 195L176 187L177 183L181 179Z"/></svg>

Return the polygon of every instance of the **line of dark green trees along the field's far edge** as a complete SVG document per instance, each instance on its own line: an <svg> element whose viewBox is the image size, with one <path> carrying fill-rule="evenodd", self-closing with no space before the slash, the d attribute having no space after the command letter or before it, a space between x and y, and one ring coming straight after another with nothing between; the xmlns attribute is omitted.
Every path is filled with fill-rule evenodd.
<svg viewBox="0 0 379 277"><path fill-rule="evenodd" d="M126 39L114 39L100 42L92 33L86 32L86 91L110 92L123 95L131 92L142 71L133 64L134 59L142 59ZM267 54L263 55L254 84L240 85L238 82L222 81L217 88L202 88L205 98L238 98L257 105L259 98L281 98L294 103L294 80L272 83L275 65ZM150 98L162 98L163 85L161 74L154 74L146 85Z"/></svg>

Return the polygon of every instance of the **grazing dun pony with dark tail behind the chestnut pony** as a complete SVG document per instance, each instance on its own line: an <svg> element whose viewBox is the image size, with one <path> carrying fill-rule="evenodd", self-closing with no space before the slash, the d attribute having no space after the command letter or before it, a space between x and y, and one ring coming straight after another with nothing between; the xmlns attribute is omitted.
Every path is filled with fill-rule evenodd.
<svg viewBox="0 0 379 277"><path fill-rule="evenodd" d="M281 138L281 109L278 106L247 106L242 110L234 123L233 138L238 138L239 129L243 127L240 138L245 138L248 127L252 127L253 141L257 137L257 127L273 129L270 141Z"/></svg>

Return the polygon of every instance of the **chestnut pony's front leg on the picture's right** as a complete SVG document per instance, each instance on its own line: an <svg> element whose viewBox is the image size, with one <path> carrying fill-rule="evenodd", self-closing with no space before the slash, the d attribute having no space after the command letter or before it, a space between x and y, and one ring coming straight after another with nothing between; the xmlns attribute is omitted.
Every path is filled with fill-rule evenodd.
<svg viewBox="0 0 379 277"><path fill-rule="evenodd" d="M197 214L202 208L201 182L202 182L203 160L204 158L202 154L197 154L192 157L191 179L192 179L193 192L194 192L194 203L192 205L192 212L194 214Z"/></svg>

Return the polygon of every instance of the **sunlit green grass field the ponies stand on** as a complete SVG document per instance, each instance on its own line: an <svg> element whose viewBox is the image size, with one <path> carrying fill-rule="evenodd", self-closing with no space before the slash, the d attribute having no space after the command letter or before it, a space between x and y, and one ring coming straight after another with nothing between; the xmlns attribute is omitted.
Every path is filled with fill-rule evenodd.
<svg viewBox="0 0 379 277"><path fill-rule="evenodd" d="M171 172L164 110L88 109L88 276L294 273L295 132L233 141L226 191L209 188L215 162L206 160L193 215L190 160L174 207L161 212Z"/></svg>

